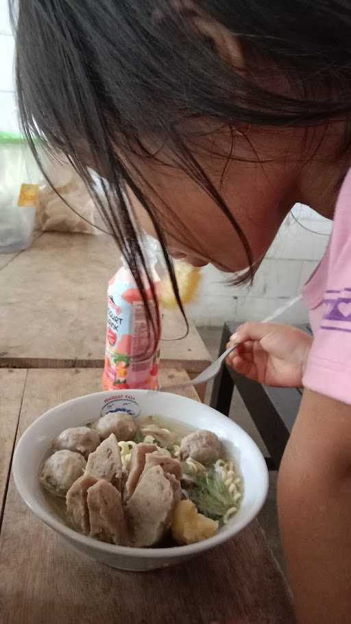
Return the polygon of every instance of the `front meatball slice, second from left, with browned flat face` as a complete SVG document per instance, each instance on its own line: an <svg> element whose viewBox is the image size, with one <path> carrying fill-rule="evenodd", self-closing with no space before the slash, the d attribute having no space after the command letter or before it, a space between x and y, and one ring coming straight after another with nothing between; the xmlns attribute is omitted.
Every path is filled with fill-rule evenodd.
<svg viewBox="0 0 351 624"><path fill-rule="evenodd" d="M100 479L88 489L90 537L110 544L127 545L127 529L121 494L111 483Z"/></svg>

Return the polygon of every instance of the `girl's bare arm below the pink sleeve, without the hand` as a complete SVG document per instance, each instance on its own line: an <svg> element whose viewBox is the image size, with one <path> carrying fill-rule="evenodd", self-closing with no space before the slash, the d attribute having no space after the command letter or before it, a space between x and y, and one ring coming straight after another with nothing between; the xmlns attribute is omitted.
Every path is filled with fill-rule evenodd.
<svg viewBox="0 0 351 624"><path fill-rule="evenodd" d="M304 391L278 479L298 624L351 622L351 407Z"/></svg>

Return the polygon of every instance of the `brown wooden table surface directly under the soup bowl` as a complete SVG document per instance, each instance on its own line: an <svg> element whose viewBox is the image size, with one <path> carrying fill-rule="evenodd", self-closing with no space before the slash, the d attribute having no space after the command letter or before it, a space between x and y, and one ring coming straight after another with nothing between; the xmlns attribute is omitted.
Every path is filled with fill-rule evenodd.
<svg viewBox="0 0 351 624"><path fill-rule="evenodd" d="M188 379L180 370L161 372ZM0 621L4 624L293 624L280 568L254 521L182 566L125 573L71 549L22 503L14 441L40 413L100 388L101 370L0 370ZM193 388L186 395L196 398ZM18 427L18 430L17 430Z"/></svg>

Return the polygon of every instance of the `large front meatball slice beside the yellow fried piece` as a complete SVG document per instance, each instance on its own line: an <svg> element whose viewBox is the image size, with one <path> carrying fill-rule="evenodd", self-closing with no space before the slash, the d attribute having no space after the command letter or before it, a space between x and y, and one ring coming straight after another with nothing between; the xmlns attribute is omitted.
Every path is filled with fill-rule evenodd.
<svg viewBox="0 0 351 624"><path fill-rule="evenodd" d="M146 470L125 507L134 547L154 546L167 533L177 502L173 484L161 466Z"/></svg>

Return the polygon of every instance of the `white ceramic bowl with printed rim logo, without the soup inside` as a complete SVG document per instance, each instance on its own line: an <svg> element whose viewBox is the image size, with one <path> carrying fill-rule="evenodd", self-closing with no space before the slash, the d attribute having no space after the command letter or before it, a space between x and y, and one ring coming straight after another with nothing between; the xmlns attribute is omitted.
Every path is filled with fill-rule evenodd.
<svg viewBox="0 0 351 624"><path fill-rule="evenodd" d="M47 456L51 441L67 427L91 422L101 414L117 409L130 411L135 418L164 416L194 429L209 429L217 433L228 456L239 467L244 494L239 512L213 538L173 548L140 549L115 546L73 531L53 514L38 481L40 466ZM134 571L171 566L229 540L258 514L265 502L268 488L268 473L263 455L250 436L235 422L215 409L189 398L147 390L133 390L130 394L123 391L88 394L50 409L23 433L14 453L13 474L16 487L29 509L45 524L58 531L73 547L114 568Z"/></svg>

